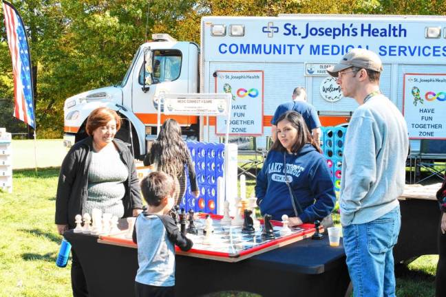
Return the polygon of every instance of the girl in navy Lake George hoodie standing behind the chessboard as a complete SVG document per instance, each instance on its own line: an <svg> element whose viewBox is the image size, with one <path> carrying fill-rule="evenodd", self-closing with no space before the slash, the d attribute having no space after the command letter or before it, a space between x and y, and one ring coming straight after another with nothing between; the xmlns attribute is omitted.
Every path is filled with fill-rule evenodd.
<svg viewBox="0 0 446 297"><path fill-rule="evenodd" d="M255 195L262 214L277 221L287 214L290 226L332 212L336 197L326 159L299 113L287 111L277 120L277 139L257 175Z"/></svg>

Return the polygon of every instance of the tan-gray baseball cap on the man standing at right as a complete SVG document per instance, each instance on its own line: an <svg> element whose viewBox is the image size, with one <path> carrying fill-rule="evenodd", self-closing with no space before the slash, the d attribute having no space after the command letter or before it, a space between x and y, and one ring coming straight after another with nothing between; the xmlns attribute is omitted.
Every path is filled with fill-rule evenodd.
<svg viewBox="0 0 446 297"><path fill-rule="evenodd" d="M337 65L328 67L327 72L330 76L337 77L338 72L352 66L376 72L383 71L383 64L377 54L370 50L356 48L345 54Z"/></svg>

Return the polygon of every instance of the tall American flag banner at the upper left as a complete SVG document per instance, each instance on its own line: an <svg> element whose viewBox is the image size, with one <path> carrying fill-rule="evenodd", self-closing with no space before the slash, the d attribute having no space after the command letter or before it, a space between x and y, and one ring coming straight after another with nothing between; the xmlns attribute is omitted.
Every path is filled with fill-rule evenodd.
<svg viewBox="0 0 446 297"><path fill-rule="evenodd" d="M31 56L25 26L19 12L6 1L3 14L14 75L14 117L35 128Z"/></svg>

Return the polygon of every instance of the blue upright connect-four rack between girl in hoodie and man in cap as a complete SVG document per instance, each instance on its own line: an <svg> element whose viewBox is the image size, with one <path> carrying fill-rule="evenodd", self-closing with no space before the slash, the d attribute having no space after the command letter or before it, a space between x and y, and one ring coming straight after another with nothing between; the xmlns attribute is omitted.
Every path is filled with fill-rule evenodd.
<svg viewBox="0 0 446 297"><path fill-rule="evenodd" d="M343 147L346 141L347 128L343 126L321 127L323 155L327 159L327 165L330 169L334 191L339 197L341 190L341 171Z"/></svg>

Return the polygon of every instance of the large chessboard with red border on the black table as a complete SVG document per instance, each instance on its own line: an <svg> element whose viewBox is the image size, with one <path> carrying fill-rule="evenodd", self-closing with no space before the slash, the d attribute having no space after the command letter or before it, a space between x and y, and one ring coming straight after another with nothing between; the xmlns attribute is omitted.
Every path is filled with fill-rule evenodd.
<svg viewBox="0 0 446 297"><path fill-rule="evenodd" d="M205 225L206 214L200 213L200 219L195 221L198 228L198 234L187 234L189 239L193 241L193 247L187 252L182 252L176 247L176 254L184 256L194 256L204 259L213 259L217 261L238 262L248 259L256 254L262 254L269 250L307 239L315 233L315 225L305 223L299 225L298 228L290 228L290 232L281 234L282 222L271 221L273 224L275 239L262 239L262 221L260 228L255 230L253 234L242 233L242 226L223 225L220 223L222 216L211 214L213 219L213 234L211 242L204 242L203 229ZM319 228L323 232L323 228ZM98 243L111 245L127 246L129 248L137 248L137 245L129 238L129 230L121 230L109 236L100 235Z"/></svg>

